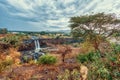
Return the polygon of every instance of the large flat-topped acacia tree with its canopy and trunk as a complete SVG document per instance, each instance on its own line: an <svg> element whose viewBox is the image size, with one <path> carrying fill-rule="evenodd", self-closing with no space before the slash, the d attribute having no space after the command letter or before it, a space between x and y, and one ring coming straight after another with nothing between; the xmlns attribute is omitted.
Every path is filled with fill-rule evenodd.
<svg viewBox="0 0 120 80"><path fill-rule="evenodd" d="M71 17L70 23L73 37L89 40L96 50L99 50L101 41L120 30L120 19L117 19L114 14L98 13Z"/></svg>

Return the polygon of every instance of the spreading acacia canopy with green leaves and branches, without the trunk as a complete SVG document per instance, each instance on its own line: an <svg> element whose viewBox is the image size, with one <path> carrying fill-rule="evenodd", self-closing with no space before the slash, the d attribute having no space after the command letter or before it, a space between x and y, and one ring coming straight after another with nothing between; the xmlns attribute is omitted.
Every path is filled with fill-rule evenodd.
<svg viewBox="0 0 120 80"><path fill-rule="evenodd" d="M111 24L111 23L118 24L120 23L120 20L113 17L112 14L98 13L93 15L71 17L70 23L71 23L70 27L71 27L71 31L73 32L73 36L76 33L78 34L78 37L80 36L83 37L88 35L92 35L92 36L96 35L97 32L99 32L97 34L102 34L103 32L101 32L101 29L104 31L104 33L106 33L107 26L103 28L102 27L103 25ZM96 32L96 30L98 31ZM116 32L116 30L114 32ZM113 33L110 33L110 35L111 34Z"/></svg>

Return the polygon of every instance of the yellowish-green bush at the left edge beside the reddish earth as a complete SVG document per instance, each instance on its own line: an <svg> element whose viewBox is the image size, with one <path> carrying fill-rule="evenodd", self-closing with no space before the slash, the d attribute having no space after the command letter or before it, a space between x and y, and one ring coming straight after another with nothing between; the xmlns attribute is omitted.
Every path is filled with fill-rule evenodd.
<svg viewBox="0 0 120 80"><path fill-rule="evenodd" d="M13 60L12 59L6 59L0 62L0 72L4 71L5 69L7 69L7 67L9 67L10 65L13 64Z"/></svg>

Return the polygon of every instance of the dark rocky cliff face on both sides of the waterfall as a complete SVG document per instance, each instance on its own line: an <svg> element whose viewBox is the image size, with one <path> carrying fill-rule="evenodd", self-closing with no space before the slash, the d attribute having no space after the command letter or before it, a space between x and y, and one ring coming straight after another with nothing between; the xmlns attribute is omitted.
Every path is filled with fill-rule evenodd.
<svg viewBox="0 0 120 80"><path fill-rule="evenodd" d="M40 46L42 48L52 47L52 45L56 45L56 44L66 44L66 43L75 43L75 42L81 42L81 40L75 40L73 38L59 38L59 39L44 38L39 40ZM26 50L33 50L33 49L35 49L35 43L34 43L34 40L31 39L31 40L23 41L23 43L19 46L18 50L26 51Z"/></svg>

